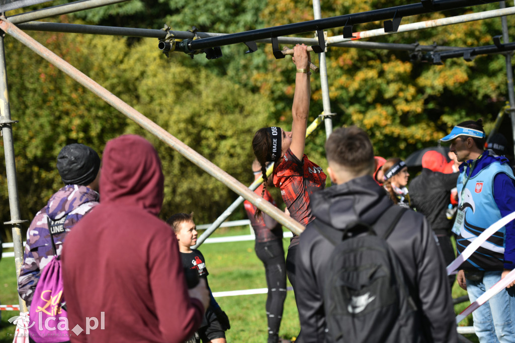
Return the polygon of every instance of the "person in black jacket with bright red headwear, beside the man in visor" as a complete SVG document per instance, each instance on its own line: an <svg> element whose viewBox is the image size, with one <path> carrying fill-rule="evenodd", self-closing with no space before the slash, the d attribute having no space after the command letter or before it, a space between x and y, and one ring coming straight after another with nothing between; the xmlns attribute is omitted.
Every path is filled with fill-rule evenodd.
<svg viewBox="0 0 515 343"><path fill-rule="evenodd" d="M436 151L428 151L422 156L422 172L409 183L411 206L424 214L438 238L445 264L449 265L456 255L451 242L453 218L447 217L451 203L451 190L456 187L459 173L443 174L441 171L447 160ZM449 275L449 283L456 276Z"/></svg>

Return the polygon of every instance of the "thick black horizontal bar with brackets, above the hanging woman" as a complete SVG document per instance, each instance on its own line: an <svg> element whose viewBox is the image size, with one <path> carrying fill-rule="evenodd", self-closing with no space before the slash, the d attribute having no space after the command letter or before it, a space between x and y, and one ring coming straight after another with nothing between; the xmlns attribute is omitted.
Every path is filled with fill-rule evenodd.
<svg viewBox="0 0 515 343"><path fill-rule="evenodd" d="M188 48L190 48L190 50L200 50L229 44L256 41L272 37L280 37L284 35L343 27L346 24L355 25L381 20L388 20L392 19L392 17L396 13L398 13L397 15L400 17L406 17L410 15L457 9L473 5L484 5L486 3L495 3L499 1L500 0L433 0L431 9L425 8L422 5L422 3L395 6L384 9L376 9L372 11L360 12L355 14L345 14L307 22L274 26L239 33L232 33L222 37L197 39L189 42Z"/></svg>

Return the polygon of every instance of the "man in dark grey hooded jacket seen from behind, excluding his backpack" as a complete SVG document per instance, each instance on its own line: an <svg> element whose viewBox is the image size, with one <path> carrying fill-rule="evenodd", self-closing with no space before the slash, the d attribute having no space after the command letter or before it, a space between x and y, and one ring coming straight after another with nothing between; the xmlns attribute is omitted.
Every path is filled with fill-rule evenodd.
<svg viewBox="0 0 515 343"><path fill-rule="evenodd" d="M305 342L334 342L325 320L324 280L333 270L325 266L334 245L315 228L331 226L344 230L356 220L373 224L394 206L372 178L373 148L368 135L356 127L335 130L325 144L328 173L333 187L312 196L316 220L300 236L297 258L300 324ZM323 224L323 225L322 225ZM434 233L422 214L404 212L387 243L397 256L409 295L416 305L416 328L404 328L417 342L456 342L456 324L443 257ZM372 299L364 303L367 304ZM371 325L373 327L373 324ZM345 333L344 333L345 334ZM390 335L383 342L404 342Z"/></svg>

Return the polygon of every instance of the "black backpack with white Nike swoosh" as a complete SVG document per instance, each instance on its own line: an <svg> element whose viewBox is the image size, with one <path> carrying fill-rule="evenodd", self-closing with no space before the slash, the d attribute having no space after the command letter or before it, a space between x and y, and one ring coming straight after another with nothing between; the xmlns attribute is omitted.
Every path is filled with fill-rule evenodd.
<svg viewBox="0 0 515 343"><path fill-rule="evenodd" d="M345 231L314 221L317 231L335 246L323 280L327 341L421 340L416 305L397 256L386 243L406 210L391 206L373 226L357 221Z"/></svg>

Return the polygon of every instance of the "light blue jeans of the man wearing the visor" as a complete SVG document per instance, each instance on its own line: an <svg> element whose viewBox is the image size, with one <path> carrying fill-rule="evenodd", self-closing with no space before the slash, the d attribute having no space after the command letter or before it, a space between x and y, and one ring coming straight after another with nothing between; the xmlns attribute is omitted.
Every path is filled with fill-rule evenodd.
<svg viewBox="0 0 515 343"><path fill-rule="evenodd" d="M470 302L488 291L501 280L502 272L485 272L483 280L467 279ZM472 312L474 330L479 342L515 342L515 294L513 287L505 288Z"/></svg>

